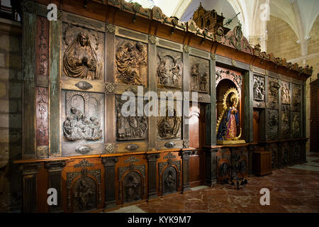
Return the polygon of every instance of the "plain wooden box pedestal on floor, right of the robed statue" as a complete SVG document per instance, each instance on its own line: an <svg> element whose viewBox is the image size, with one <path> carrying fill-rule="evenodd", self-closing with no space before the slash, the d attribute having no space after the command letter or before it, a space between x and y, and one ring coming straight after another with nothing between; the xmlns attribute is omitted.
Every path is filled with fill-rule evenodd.
<svg viewBox="0 0 319 227"><path fill-rule="evenodd" d="M271 151L254 152L254 174L259 177L272 174Z"/></svg>

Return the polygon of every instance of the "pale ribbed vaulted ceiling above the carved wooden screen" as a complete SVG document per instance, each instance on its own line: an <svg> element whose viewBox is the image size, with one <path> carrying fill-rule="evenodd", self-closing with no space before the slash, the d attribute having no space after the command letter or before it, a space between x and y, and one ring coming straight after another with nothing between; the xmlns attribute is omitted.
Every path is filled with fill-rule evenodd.
<svg viewBox="0 0 319 227"><path fill-rule="evenodd" d="M130 1L130 0L126 0ZM167 16L176 16L188 21L194 11L203 5L205 9L215 9L226 19L240 13L229 28L242 23L244 35L250 39L259 37L262 50L267 50L267 20L269 15L281 18L291 26L301 45L301 55L307 55L309 33L319 13L319 0L133 0L143 7L159 6Z"/></svg>

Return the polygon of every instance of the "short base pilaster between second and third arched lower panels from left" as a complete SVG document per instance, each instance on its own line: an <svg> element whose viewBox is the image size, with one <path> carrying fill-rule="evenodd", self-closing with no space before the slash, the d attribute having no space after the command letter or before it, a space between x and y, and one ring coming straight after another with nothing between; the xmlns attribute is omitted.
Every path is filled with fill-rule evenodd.
<svg viewBox="0 0 319 227"><path fill-rule="evenodd" d="M147 155L148 160L148 199L155 199L156 192L156 162L159 158L159 153Z"/></svg>

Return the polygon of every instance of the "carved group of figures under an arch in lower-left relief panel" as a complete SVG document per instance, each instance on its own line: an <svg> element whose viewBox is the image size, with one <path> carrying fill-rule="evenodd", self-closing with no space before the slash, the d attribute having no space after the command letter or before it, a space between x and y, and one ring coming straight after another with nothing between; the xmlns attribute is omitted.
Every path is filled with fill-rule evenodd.
<svg viewBox="0 0 319 227"><path fill-rule="evenodd" d="M71 108L71 116L63 122L63 133L68 140L99 140L102 138L102 130L99 120L95 117L86 118L82 111Z"/></svg>

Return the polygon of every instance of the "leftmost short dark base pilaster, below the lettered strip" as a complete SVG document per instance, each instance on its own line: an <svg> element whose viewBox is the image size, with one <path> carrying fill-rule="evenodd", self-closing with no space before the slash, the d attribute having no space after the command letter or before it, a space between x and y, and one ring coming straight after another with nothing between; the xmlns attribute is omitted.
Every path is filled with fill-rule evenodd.
<svg viewBox="0 0 319 227"><path fill-rule="evenodd" d="M37 174L40 168L38 163L26 163L21 167L22 171L22 196L23 212L37 211Z"/></svg>

